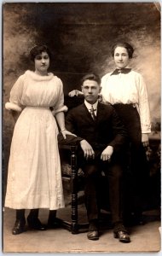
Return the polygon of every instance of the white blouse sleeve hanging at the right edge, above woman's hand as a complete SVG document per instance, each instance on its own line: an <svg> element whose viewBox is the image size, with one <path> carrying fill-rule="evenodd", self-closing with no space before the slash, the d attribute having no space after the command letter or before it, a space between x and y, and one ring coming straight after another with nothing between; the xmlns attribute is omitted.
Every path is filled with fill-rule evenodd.
<svg viewBox="0 0 162 256"><path fill-rule="evenodd" d="M141 119L142 133L150 133L151 119L148 103L148 90L145 81L140 74L136 85L138 90L139 114Z"/></svg>

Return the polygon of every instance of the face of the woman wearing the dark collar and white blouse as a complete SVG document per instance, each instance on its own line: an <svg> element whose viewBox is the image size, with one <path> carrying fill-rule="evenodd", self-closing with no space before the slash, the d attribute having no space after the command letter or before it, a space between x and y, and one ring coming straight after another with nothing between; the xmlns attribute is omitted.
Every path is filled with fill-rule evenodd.
<svg viewBox="0 0 162 256"><path fill-rule="evenodd" d="M113 58L118 68L126 67L130 61L127 49L121 46L115 48Z"/></svg>

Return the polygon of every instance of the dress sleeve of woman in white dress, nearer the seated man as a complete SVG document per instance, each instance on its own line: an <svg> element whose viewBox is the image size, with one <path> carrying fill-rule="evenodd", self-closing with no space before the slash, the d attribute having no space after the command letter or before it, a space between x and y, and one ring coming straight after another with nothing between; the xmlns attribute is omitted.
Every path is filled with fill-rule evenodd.
<svg viewBox="0 0 162 256"><path fill-rule="evenodd" d="M67 112L67 106L64 105L63 84L61 82L61 79L59 80L60 80L59 96L58 96L57 102L55 103L54 110L52 111L54 115L55 113L59 113L62 111Z"/></svg>

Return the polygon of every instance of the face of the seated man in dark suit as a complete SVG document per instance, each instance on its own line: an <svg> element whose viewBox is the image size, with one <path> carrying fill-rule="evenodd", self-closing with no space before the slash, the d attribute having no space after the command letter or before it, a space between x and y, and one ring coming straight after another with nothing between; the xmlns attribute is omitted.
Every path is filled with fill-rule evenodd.
<svg viewBox="0 0 162 256"><path fill-rule="evenodd" d="M90 104L94 104L98 99L98 95L101 91L101 87L93 80L85 80L82 85L82 92L84 93L84 98Z"/></svg>

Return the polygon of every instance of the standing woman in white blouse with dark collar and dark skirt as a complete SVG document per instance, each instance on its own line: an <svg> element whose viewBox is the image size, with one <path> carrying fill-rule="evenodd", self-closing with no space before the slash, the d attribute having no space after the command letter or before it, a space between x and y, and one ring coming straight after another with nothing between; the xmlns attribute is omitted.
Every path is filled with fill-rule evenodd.
<svg viewBox="0 0 162 256"><path fill-rule="evenodd" d="M116 69L101 79L103 102L110 102L123 120L129 136L130 173L125 173L125 218L132 212L134 221L142 222L142 204L148 178L145 147L151 132L147 86L140 73L129 67L134 49L128 43L115 44L112 49ZM128 177L126 177L128 176Z"/></svg>

